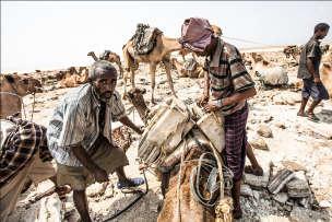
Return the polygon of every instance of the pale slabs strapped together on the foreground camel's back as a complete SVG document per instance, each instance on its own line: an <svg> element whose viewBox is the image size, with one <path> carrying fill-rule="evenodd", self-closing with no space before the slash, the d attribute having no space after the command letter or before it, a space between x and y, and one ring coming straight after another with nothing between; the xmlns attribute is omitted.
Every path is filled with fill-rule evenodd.
<svg viewBox="0 0 332 222"><path fill-rule="evenodd" d="M198 121L197 121L198 120ZM159 105L142 135L138 155L147 164L173 168L193 147L225 145L222 116L199 113L178 98Z"/></svg>

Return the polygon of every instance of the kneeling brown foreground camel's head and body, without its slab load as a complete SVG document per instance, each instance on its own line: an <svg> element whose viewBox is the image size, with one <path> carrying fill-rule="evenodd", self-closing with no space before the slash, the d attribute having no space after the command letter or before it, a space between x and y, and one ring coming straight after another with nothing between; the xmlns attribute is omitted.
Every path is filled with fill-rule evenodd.
<svg viewBox="0 0 332 222"><path fill-rule="evenodd" d="M129 92L126 93L129 101L133 104L137 108L140 117L142 118L143 122L147 122L151 118L151 110L146 107L143 93L145 90L141 89L131 89ZM191 141L191 142L190 142ZM215 221L215 213L214 209L209 209L202 206L201 203L197 202L193 198L193 195L190 189L190 174L193 167L198 165L197 162L186 162L193 159L199 159L200 154L206 148L199 148L199 145L193 142L193 139L188 139L188 145L190 147L189 154L186 155L185 163L182 165L181 171L181 194L180 194L180 212L178 213L178 206L177 206L177 183L178 183L178 174L180 172L174 170L170 173L169 180L162 182L162 190L165 197L164 205L162 211L158 215L158 222L166 222L166 221L177 221L180 217L181 221L208 221L212 222ZM159 177L162 177L162 173L159 171L155 172ZM203 175L208 178L208 175Z"/></svg>

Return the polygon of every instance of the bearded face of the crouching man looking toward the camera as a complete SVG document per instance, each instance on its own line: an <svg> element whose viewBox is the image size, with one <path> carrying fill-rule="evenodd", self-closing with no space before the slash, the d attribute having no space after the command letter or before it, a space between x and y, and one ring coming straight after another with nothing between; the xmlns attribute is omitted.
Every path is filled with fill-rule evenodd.
<svg viewBox="0 0 332 222"><path fill-rule="evenodd" d="M117 85L117 78L116 73L106 73L93 82L93 85L102 100L111 97Z"/></svg>

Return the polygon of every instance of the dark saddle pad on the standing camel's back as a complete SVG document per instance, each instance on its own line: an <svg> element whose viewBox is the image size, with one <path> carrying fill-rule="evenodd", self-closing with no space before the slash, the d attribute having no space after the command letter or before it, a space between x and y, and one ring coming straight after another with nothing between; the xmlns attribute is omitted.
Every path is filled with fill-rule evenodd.
<svg viewBox="0 0 332 222"><path fill-rule="evenodd" d="M162 34L157 27L139 23L135 34L131 37L137 55L150 54L156 45L156 37Z"/></svg>

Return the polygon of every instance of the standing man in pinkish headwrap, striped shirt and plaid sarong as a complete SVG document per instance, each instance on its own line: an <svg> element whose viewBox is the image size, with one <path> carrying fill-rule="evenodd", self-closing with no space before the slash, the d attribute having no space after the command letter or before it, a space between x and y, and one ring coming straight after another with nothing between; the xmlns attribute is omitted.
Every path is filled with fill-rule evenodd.
<svg viewBox="0 0 332 222"><path fill-rule="evenodd" d="M204 94L200 105L206 112L221 112L225 117L225 164L234 173L232 196L234 218L241 218L240 178L244 172L247 98L256 95L254 82L247 72L238 49L213 35L208 20L190 17L181 27L180 43L199 56L206 56Z"/></svg>

